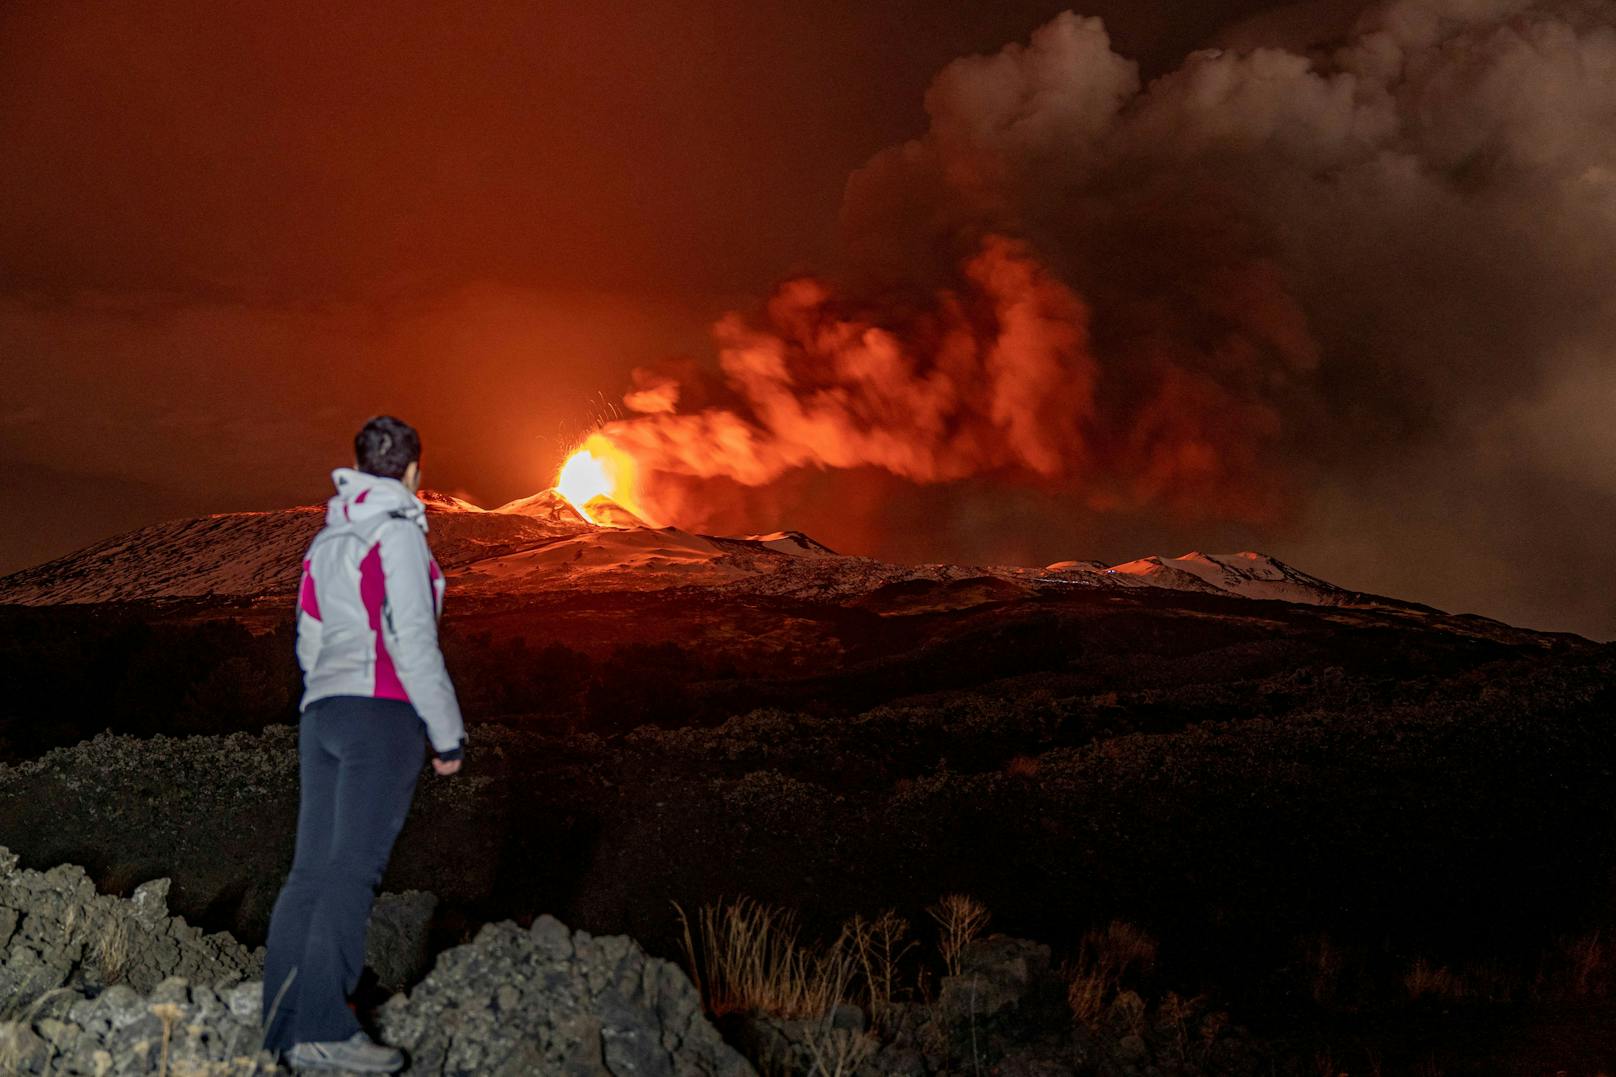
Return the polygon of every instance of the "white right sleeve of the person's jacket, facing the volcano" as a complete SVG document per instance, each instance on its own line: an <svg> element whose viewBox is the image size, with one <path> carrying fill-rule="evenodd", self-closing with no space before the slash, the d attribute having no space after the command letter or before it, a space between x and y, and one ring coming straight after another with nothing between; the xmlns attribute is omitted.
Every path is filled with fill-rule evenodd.
<svg viewBox="0 0 1616 1077"><path fill-rule="evenodd" d="M427 535L407 521L380 532L386 602L381 631L399 682L409 694L438 755L457 752L465 741L461 703L438 650L438 608Z"/></svg>

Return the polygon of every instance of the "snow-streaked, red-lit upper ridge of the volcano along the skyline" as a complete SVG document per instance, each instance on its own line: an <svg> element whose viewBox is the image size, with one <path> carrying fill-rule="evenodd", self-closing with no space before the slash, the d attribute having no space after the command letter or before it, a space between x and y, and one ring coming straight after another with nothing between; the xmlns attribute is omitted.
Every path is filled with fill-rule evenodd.
<svg viewBox="0 0 1616 1077"><path fill-rule="evenodd" d="M648 527L606 498L590 501L580 513L554 490L496 509L436 492L422 492L420 498L427 506L433 551L454 593L467 597L703 587L847 602L887 593L882 589L895 584L958 589L970 581L999 581L987 589L966 590L970 595L981 592L983 602L991 600L989 595L1002 598L1008 592L1033 593L1050 587L1152 587L1307 605L1416 608L1345 590L1252 551L1149 556L1122 564L1060 561L1042 569L889 564L835 553L795 530L718 537ZM323 509L301 506L154 524L0 577L0 603L291 595L302 551L322 519ZM950 602L966 597L960 592ZM920 608L926 602L907 597L900 605Z"/></svg>

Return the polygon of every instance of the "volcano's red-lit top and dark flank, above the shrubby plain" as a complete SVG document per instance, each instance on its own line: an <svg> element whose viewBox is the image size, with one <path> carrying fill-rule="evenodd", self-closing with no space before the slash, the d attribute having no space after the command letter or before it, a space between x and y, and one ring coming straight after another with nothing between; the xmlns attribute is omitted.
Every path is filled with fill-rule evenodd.
<svg viewBox="0 0 1616 1077"><path fill-rule="evenodd" d="M890 564L800 532L601 526L633 517L556 492L498 509L422 500L470 723L611 734L805 702L850 715L1015 676L1104 691L1209 663L1417 673L1589 645L1335 587L1260 553ZM296 721L291 606L320 521L312 506L175 521L0 579L0 760L100 731Z"/></svg>

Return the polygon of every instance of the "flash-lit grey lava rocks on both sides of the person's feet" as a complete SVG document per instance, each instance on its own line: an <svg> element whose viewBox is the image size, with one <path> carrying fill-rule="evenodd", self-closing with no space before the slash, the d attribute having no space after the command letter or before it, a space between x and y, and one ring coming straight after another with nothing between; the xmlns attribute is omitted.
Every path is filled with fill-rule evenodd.
<svg viewBox="0 0 1616 1077"><path fill-rule="evenodd" d="M275 1071L260 1050L263 951L166 915L166 883L121 901L76 867L18 870L0 851L0 1074ZM377 928L385 964L401 936ZM485 927L375 1017L414 1074L755 1072L677 965L551 917Z"/></svg>

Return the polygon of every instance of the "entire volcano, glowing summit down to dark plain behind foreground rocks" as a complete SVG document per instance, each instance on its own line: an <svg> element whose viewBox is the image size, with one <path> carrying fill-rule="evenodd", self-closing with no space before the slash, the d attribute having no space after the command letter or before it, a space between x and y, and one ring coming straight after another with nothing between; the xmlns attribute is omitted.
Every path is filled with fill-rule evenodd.
<svg viewBox="0 0 1616 1077"><path fill-rule="evenodd" d="M1427 952L1534 974L1611 915L1610 647L1252 550L894 564L600 495L420 496L469 763L385 886L431 891L446 938L553 914L675 954L675 901L834 936L968 893L1062 952L1139 923L1283 1025L1298 940L1401 990ZM0 579L0 846L171 876L187 920L263 938L322 519L171 521Z"/></svg>

